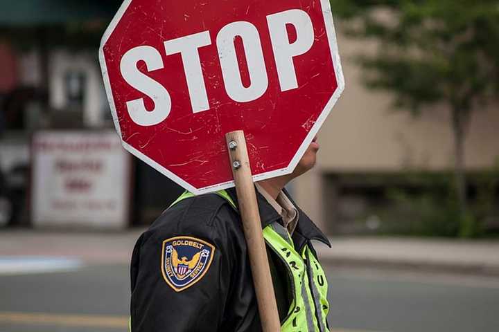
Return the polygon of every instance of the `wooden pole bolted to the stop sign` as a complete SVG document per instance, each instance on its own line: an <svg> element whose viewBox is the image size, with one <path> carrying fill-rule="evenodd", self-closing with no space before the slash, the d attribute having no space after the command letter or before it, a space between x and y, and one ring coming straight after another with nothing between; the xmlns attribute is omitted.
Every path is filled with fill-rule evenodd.
<svg viewBox="0 0 499 332"><path fill-rule="evenodd" d="M256 300L259 306L263 332L281 331L279 312L270 275L267 250L263 241L258 203L249 167L246 140L243 131L231 131L225 135L232 173L236 183L239 211L243 219L249 263L251 264Z"/></svg>

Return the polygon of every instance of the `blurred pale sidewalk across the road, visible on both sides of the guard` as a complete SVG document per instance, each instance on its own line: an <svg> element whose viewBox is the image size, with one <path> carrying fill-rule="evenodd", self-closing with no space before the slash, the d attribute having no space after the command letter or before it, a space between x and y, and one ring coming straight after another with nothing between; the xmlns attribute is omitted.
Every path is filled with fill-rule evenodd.
<svg viewBox="0 0 499 332"><path fill-rule="evenodd" d="M0 273L2 269L3 273L12 269L12 257L23 257L27 261L49 257L46 262L69 267L78 264L71 259L78 259L82 264L128 264L134 243L142 231L134 229L97 233L2 230ZM316 248L322 261L332 266L499 277L499 241L409 237L333 237L330 241L331 249L320 243ZM64 265L66 261L67 265Z"/></svg>

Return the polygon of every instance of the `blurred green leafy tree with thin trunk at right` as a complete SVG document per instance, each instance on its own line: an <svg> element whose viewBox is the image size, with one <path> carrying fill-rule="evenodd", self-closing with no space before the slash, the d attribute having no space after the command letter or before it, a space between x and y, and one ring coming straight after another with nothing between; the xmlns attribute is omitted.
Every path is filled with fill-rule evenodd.
<svg viewBox="0 0 499 332"><path fill-rule="evenodd" d="M464 140L473 111L499 93L499 1L332 0L351 37L379 43L360 55L367 86L394 93L396 106L417 114L429 104L450 111L454 183L462 235L469 229ZM486 144L494 144L487 142Z"/></svg>

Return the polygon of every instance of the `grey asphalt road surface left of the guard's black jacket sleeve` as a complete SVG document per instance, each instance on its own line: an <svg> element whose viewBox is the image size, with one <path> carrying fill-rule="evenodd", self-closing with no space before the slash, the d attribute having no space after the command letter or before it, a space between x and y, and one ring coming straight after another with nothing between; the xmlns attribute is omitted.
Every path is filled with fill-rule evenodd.
<svg viewBox="0 0 499 332"><path fill-rule="evenodd" d="M128 315L128 265L87 266L66 273L0 276L1 313ZM123 328L2 322L2 332L123 332Z"/></svg>

